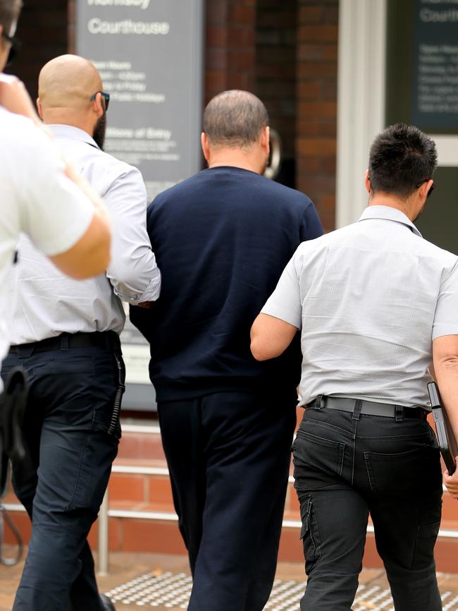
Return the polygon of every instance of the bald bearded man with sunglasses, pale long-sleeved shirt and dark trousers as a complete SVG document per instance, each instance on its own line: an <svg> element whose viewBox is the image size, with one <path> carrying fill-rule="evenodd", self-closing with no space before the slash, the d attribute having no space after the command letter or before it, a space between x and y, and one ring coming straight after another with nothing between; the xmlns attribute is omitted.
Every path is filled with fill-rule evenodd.
<svg viewBox="0 0 458 611"><path fill-rule="evenodd" d="M149 303L161 274L146 228L140 171L101 150L109 95L90 61L63 55L39 74L37 108L63 155L102 195L113 224L106 273L66 279L23 236L4 372L30 379L28 460L12 460L13 488L32 520L13 611L112 610L99 595L87 543L120 439L125 370L120 301Z"/></svg>

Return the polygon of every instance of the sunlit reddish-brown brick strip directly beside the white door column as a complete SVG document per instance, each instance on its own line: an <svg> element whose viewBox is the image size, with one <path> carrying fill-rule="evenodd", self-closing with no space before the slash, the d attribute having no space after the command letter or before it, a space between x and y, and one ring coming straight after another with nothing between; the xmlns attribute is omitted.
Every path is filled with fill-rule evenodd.
<svg viewBox="0 0 458 611"><path fill-rule="evenodd" d="M297 2L296 184L335 227L338 0Z"/></svg>

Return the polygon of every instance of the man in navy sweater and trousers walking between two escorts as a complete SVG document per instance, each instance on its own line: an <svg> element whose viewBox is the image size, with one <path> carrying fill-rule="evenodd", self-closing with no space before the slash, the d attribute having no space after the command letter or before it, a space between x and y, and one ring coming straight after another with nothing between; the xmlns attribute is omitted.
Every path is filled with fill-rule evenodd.
<svg viewBox="0 0 458 611"><path fill-rule="evenodd" d="M262 174L264 104L244 91L204 112L208 169L151 203L162 292L132 322L151 344L163 447L194 584L189 611L261 611L271 592L301 356L251 356L249 329L304 240L323 233L303 193Z"/></svg>

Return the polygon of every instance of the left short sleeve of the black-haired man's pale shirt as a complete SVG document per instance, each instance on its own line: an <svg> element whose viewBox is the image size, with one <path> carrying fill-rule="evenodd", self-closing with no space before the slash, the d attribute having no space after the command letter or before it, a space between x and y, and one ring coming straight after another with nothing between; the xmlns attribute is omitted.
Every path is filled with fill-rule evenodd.
<svg viewBox="0 0 458 611"><path fill-rule="evenodd" d="M273 294L266 301L261 313L280 318L290 325L302 327L302 305L299 274L297 273L297 250L288 262Z"/></svg>

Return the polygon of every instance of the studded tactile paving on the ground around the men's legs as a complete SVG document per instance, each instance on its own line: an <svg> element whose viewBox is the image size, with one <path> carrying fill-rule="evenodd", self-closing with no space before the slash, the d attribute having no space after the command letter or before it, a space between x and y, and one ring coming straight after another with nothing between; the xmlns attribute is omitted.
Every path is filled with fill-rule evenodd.
<svg viewBox="0 0 458 611"><path fill-rule="evenodd" d="M271 611L297 611L305 589L305 581L276 579L271 598L265 607ZM185 573L170 571L153 576L142 575L106 592L113 603L139 607L166 607L186 609L190 599L192 579ZM458 595L451 591L442 593L443 611L458 611ZM353 611L395 611L388 588L359 586Z"/></svg>

